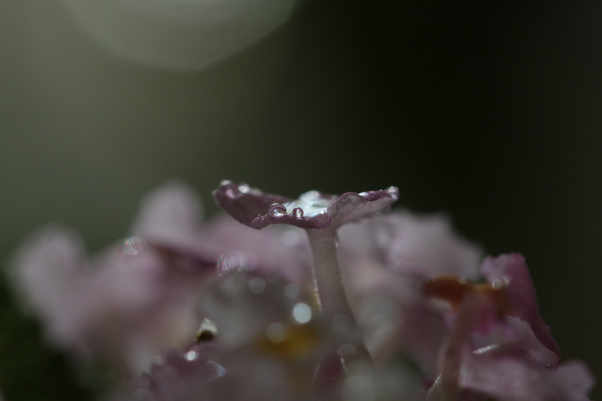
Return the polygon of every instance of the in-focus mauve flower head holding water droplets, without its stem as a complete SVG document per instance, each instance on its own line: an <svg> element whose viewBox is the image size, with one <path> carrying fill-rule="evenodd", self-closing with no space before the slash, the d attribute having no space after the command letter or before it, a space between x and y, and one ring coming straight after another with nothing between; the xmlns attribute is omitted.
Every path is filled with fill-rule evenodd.
<svg viewBox="0 0 602 401"><path fill-rule="evenodd" d="M394 186L384 191L356 194L346 192L337 197L318 191L302 194L297 200L266 194L246 184L231 181L213 191L217 206L237 221L253 228L288 224L300 228L338 228L350 221L388 209L399 198Z"/></svg>

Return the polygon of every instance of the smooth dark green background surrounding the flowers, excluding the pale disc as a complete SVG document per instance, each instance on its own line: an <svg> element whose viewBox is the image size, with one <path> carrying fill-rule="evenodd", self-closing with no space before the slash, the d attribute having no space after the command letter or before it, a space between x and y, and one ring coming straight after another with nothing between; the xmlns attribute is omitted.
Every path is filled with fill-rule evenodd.
<svg viewBox="0 0 602 401"><path fill-rule="evenodd" d="M563 356L602 376L600 2L314 0L173 72L105 54L58 2L0 0L0 85L3 260L51 221L96 251L170 177L209 214L224 178L291 196L397 185L490 253L523 253ZM0 301L7 399L90 396L6 286Z"/></svg>

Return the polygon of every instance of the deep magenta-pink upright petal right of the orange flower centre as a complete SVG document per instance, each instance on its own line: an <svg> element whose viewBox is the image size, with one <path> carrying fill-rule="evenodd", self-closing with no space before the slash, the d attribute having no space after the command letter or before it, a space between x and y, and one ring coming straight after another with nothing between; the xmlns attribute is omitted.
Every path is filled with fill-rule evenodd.
<svg viewBox="0 0 602 401"><path fill-rule="evenodd" d="M539 342L560 358L560 349L550 334L550 327L539 314L535 287L524 257L520 254L488 257L483 262L481 273L490 283L508 283L506 294L512 308L510 315L529 323Z"/></svg>

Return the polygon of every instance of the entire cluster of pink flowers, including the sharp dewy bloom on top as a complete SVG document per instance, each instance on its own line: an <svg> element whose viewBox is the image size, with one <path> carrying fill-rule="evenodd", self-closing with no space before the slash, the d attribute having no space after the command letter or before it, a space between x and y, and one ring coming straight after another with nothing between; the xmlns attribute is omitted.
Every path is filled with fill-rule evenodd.
<svg viewBox="0 0 602 401"><path fill-rule="evenodd" d="M169 183L93 260L58 227L19 251L49 337L134 378L114 400L588 400L523 257L483 258L444 216L383 213L397 188L213 196L229 216L203 222Z"/></svg>

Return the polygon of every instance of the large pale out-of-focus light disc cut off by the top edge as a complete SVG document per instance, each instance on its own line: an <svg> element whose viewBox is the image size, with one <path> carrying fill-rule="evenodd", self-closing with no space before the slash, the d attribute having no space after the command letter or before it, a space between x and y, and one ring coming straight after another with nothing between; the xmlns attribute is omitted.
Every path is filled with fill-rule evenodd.
<svg viewBox="0 0 602 401"><path fill-rule="evenodd" d="M278 28L296 0L63 0L111 54L172 69L200 69Z"/></svg>

